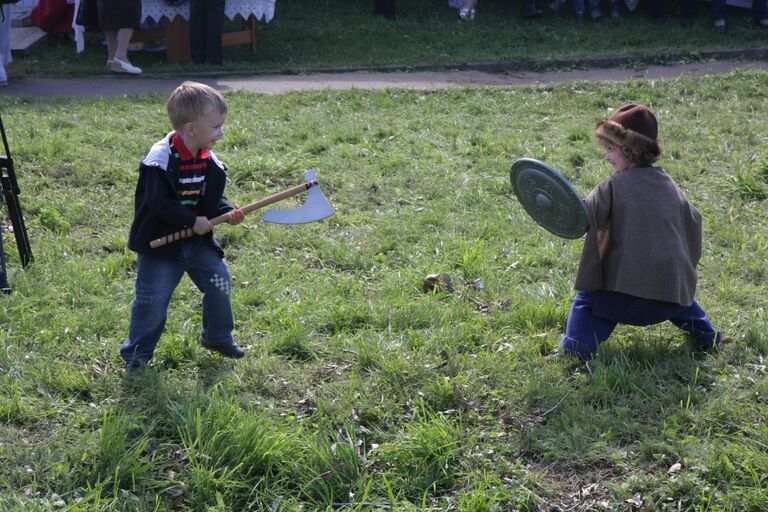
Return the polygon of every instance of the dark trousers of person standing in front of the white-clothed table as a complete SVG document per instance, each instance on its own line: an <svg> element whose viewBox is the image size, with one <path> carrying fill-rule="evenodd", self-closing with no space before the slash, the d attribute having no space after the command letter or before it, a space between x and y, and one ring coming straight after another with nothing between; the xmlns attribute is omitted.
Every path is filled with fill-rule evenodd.
<svg viewBox="0 0 768 512"><path fill-rule="evenodd" d="M224 0L191 0L189 4L189 50L196 64L221 64L221 34L224 31Z"/></svg>

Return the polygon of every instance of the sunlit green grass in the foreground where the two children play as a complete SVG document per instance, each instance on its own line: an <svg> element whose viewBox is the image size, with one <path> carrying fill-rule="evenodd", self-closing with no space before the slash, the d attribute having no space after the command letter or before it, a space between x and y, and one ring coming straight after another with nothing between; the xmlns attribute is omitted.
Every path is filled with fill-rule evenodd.
<svg viewBox="0 0 768 512"><path fill-rule="evenodd" d="M0 510L762 510L767 84L227 93L228 197L314 168L337 214L218 227L247 357L198 345L185 278L134 379L126 236L166 98L0 98L35 255L20 269L5 233ZM735 343L621 327L588 367L547 364L581 242L534 225L509 166L545 160L586 193L610 172L592 127L627 100L656 110L702 211L697 295ZM441 273L455 290L425 292Z"/></svg>

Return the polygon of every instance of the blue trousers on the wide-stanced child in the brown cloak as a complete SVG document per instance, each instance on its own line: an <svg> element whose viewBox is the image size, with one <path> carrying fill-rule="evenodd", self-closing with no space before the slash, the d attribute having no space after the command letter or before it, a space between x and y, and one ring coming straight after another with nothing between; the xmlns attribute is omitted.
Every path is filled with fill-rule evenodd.
<svg viewBox="0 0 768 512"><path fill-rule="evenodd" d="M589 361L617 324L644 326L667 320L688 332L698 349L710 349L720 343L720 333L696 301L690 306L681 306L599 291L578 292L573 298L560 348Z"/></svg>

